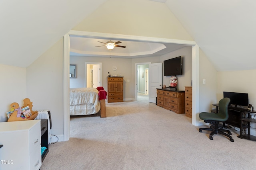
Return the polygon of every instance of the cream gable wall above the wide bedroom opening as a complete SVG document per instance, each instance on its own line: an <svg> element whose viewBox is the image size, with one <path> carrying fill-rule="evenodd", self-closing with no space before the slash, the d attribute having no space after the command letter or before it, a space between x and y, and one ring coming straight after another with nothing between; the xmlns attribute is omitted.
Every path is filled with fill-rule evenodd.
<svg viewBox="0 0 256 170"><path fill-rule="evenodd" d="M193 41L166 4L148 0L108 0L72 30Z"/></svg>

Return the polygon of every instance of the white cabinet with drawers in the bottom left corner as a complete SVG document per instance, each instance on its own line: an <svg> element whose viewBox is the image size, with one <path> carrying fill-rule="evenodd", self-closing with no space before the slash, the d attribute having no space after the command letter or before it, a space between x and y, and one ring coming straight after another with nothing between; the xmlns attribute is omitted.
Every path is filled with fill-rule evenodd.
<svg viewBox="0 0 256 170"><path fill-rule="evenodd" d="M40 120L0 122L0 169L39 170Z"/></svg>

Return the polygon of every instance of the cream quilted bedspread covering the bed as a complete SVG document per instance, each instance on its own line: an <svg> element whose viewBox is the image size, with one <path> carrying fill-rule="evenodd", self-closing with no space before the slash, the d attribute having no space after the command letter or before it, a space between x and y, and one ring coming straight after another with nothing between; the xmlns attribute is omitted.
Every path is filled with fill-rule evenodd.
<svg viewBox="0 0 256 170"><path fill-rule="evenodd" d="M70 88L70 115L92 115L100 111L96 88Z"/></svg>

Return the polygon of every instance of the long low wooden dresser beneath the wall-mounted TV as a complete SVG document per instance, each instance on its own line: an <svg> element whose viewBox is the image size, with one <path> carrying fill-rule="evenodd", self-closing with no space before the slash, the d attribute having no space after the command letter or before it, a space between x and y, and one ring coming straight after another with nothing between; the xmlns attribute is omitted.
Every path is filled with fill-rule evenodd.
<svg viewBox="0 0 256 170"><path fill-rule="evenodd" d="M184 90L165 90L156 89L157 93L157 106L171 110L175 113L185 113L185 92Z"/></svg>

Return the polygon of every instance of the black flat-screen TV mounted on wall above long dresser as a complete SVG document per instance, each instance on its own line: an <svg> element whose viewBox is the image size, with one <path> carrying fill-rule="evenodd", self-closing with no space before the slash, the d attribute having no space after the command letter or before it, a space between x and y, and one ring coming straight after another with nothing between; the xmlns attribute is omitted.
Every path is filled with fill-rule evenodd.
<svg viewBox="0 0 256 170"><path fill-rule="evenodd" d="M182 75L181 56L164 61L164 76Z"/></svg>

